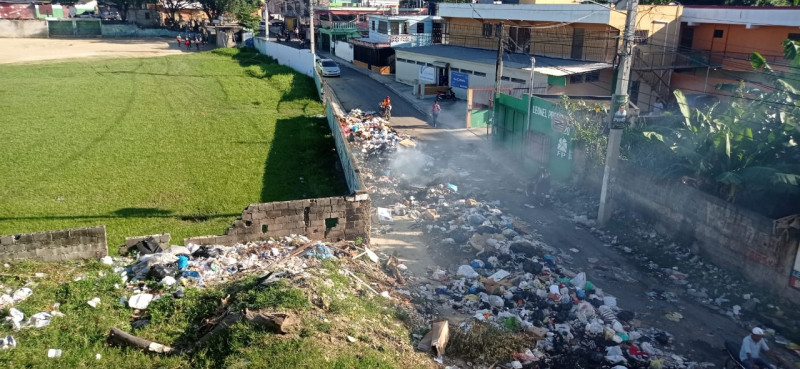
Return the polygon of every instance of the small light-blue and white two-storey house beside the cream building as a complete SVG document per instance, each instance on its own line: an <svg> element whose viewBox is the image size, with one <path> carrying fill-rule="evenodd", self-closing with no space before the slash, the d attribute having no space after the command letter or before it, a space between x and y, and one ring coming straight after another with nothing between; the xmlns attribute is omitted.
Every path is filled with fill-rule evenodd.
<svg viewBox="0 0 800 369"><path fill-rule="evenodd" d="M352 62L381 74L394 73L395 49L441 43L440 22L440 17L428 15L369 15L369 37L350 39Z"/></svg>

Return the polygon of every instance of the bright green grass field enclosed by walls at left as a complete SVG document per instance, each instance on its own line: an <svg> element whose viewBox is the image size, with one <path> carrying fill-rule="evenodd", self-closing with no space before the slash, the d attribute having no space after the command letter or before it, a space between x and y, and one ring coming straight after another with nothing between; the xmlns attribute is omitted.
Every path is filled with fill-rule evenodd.
<svg viewBox="0 0 800 369"><path fill-rule="evenodd" d="M0 234L182 243L347 189L313 80L251 51L4 65L0 112Z"/></svg>

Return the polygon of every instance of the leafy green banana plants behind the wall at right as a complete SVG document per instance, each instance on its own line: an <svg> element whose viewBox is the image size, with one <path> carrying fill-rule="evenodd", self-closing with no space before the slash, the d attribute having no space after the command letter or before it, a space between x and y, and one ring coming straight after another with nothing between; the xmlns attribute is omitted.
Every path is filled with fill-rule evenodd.
<svg viewBox="0 0 800 369"><path fill-rule="evenodd" d="M730 105L691 109L683 93L675 91L683 120L643 132L672 152L664 174L731 202L771 203L771 209L761 210L773 216L800 211L800 46L789 40L783 45L788 72L774 70L758 53L750 57L753 68L770 81L765 88L716 86L733 93ZM786 208L788 198L798 201Z"/></svg>

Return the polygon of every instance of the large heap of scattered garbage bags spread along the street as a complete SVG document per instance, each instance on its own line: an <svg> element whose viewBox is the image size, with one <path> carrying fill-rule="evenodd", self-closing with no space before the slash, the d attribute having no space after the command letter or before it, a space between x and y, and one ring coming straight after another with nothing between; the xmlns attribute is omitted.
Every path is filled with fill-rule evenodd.
<svg viewBox="0 0 800 369"><path fill-rule="evenodd" d="M388 142L399 140L391 137ZM386 139L376 140L380 145ZM448 253L450 262L458 260L456 255L469 256L466 264L408 278L409 298L429 321L452 309L466 318L462 329L481 321L533 336L535 342L515 354L507 367L710 365L670 352L669 333L646 327L585 273L565 268L570 253L578 249L560 250L542 242L535 229L505 213L499 202L476 200L477 191L452 183L459 178L447 169L424 164L427 183L414 183L388 166L410 153L375 155L369 151L374 140L355 143L366 149L360 156L362 177L373 195L381 195L373 197L379 220L373 223L375 230L391 231L394 217L408 217L424 230L429 247ZM382 152L393 152L395 146Z"/></svg>

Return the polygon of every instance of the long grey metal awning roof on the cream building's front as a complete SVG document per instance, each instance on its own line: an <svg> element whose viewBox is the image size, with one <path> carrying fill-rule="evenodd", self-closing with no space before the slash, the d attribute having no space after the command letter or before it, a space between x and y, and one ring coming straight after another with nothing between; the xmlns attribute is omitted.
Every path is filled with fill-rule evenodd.
<svg viewBox="0 0 800 369"><path fill-rule="evenodd" d="M431 45L413 48L397 48L395 52L436 56L437 58L442 58L444 61L455 59L490 65L495 65L497 61L497 51L462 46ZM610 63L560 59L538 55L534 55L534 57L536 57L536 73L551 76L569 76L612 67ZM506 53L503 54L503 66L505 68L529 70L531 68L531 59L527 54Z"/></svg>

